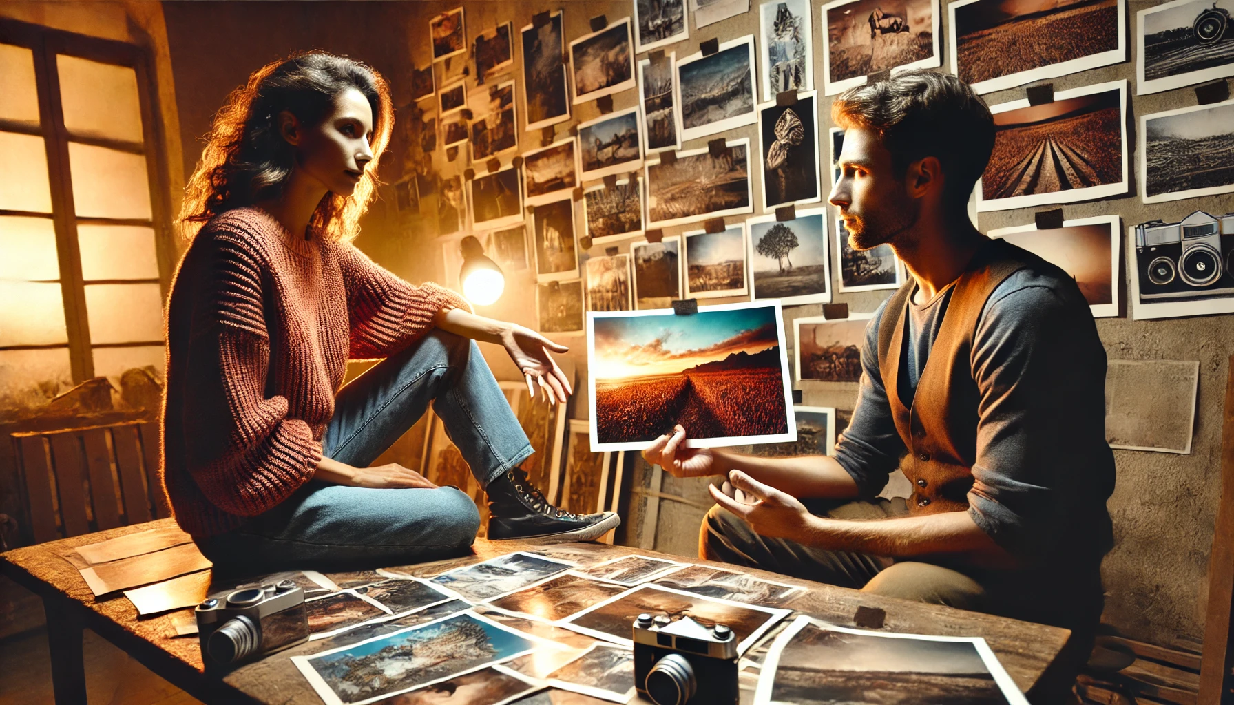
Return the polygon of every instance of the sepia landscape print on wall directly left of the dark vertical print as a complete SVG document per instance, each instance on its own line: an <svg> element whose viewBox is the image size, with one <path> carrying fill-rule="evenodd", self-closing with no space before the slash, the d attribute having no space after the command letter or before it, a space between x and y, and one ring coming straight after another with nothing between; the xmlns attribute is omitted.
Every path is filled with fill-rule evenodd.
<svg viewBox="0 0 1234 705"><path fill-rule="evenodd" d="M729 140L719 153L679 152L675 162L648 161L647 227L754 212L748 138Z"/></svg>

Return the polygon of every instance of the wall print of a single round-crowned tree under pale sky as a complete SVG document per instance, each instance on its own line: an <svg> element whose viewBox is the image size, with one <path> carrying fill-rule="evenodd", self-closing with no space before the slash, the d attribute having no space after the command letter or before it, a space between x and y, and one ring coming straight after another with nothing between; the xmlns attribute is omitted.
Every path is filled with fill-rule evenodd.
<svg viewBox="0 0 1234 705"><path fill-rule="evenodd" d="M752 299L780 299L785 305L829 304L832 268L827 247L827 210L774 215L745 221L750 242Z"/></svg>

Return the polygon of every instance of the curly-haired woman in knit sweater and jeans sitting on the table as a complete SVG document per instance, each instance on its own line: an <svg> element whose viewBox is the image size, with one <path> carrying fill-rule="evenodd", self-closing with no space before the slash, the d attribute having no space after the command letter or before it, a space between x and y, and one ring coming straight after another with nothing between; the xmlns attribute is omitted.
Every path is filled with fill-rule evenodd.
<svg viewBox="0 0 1234 705"><path fill-rule="evenodd" d="M168 304L163 484L175 520L225 572L399 564L471 544L455 488L369 467L432 401L487 493L489 538L595 538L612 512L552 506L479 348L496 343L561 403L568 348L415 286L350 244L394 123L385 79L325 52L253 73L215 117L180 222ZM385 358L342 386L348 359Z"/></svg>

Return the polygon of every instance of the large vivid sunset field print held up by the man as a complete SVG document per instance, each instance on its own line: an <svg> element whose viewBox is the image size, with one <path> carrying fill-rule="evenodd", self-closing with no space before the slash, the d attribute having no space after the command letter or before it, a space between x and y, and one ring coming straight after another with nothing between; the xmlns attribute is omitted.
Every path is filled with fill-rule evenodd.
<svg viewBox="0 0 1234 705"><path fill-rule="evenodd" d="M687 447L792 441L779 301L587 314L591 449L638 451L680 422Z"/></svg>

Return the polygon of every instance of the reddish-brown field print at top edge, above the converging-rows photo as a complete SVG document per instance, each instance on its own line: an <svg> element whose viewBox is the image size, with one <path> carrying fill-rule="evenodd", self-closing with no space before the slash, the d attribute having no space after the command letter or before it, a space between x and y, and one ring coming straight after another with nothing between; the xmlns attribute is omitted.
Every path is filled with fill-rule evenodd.
<svg viewBox="0 0 1234 705"><path fill-rule="evenodd" d="M1127 60L1127 0L959 0L951 69L977 93Z"/></svg>

